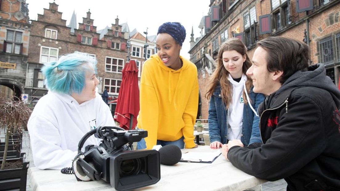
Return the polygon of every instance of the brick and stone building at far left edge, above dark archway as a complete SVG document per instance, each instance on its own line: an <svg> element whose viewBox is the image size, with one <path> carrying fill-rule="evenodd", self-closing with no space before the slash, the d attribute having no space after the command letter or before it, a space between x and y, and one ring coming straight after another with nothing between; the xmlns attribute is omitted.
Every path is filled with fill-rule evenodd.
<svg viewBox="0 0 340 191"><path fill-rule="evenodd" d="M0 1L0 92L25 93L31 24L25 0ZM12 89L12 90L10 90Z"/></svg>

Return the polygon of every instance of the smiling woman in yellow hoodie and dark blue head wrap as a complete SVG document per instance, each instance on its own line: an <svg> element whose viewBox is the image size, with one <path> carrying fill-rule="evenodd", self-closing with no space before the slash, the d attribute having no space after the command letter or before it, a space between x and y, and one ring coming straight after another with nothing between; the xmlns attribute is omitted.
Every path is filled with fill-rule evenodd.
<svg viewBox="0 0 340 191"><path fill-rule="evenodd" d="M180 56L185 28L166 22L157 32L157 54L144 63L140 79L137 127L148 131L138 149L175 144L195 148L193 125L198 109L197 68Z"/></svg>

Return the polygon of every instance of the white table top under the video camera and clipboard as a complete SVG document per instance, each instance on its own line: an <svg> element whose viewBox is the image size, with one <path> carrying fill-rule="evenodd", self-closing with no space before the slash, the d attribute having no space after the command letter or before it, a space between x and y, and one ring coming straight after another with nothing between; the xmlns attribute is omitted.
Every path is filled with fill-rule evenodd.
<svg viewBox="0 0 340 191"><path fill-rule="evenodd" d="M182 153L214 152L209 146L183 149ZM109 183L101 181L77 181L74 174L62 174L60 170L29 168L31 187L34 191L52 190L114 190ZM212 163L179 162L173 166L160 165L158 183L137 190L226 190L241 191L266 180L248 175L234 167L220 155Z"/></svg>

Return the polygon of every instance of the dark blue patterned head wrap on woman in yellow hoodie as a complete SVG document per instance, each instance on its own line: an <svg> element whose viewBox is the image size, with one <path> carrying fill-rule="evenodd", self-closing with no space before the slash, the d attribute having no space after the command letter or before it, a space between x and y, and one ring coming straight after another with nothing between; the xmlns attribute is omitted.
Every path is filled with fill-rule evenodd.
<svg viewBox="0 0 340 191"><path fill-rule="evenodd" d="M185 28L179 22L165 22L159 26L157 35L159 33L168 33L175 41L182 46L185 39Z"/></svg>

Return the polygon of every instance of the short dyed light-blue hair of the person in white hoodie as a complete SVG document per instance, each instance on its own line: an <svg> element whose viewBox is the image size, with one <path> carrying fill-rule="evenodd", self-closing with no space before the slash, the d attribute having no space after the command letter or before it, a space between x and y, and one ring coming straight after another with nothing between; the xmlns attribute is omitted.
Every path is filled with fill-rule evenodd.
<svg viewBox="0 0 340 191"><path fill-rule="evenodd" d="M47 88L54 92L80 94L85 86L86 73L96 68L95 57L84 53L61 56L57 62L44 64L41 71L45 75ZM90 67L92 66L92 67Z"/></svg>

